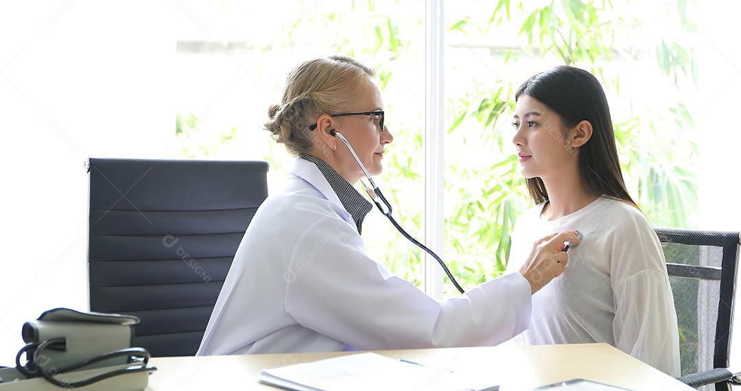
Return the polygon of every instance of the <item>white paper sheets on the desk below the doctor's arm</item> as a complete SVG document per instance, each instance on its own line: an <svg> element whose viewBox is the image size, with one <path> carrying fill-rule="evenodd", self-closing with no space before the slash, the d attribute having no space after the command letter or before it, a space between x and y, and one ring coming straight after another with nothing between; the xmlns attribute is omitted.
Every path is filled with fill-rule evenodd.
<svg viewBox="0 0 741 391"><path fill-rule="evenodd" d="M262 370L259 382L296 391L496 390L456 373L360 353ZM477 384L472 384L477 383ZM484 384L491 386L490 384Z"/></svg>

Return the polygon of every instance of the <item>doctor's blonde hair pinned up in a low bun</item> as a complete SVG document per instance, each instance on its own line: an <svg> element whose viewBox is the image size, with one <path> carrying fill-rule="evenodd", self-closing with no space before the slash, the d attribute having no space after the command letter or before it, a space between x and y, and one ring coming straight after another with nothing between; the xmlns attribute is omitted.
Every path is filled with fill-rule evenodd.
<svg viewBox="0 0 741 391"><path fill-rule="evenodd" d="M265 129L298 155L311 150L309 126L321 113L339 113L357 95L358 82L375 72L346 56L330 56L300 64L288 75L280 104L268 108Z"/></svg>

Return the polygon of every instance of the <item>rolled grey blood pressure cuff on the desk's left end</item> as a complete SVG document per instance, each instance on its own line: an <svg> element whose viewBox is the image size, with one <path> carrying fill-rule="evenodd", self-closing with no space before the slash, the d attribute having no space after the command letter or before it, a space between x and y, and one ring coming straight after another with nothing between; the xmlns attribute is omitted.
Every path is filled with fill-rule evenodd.
<svg viewBox="0 0 741 391"><path fill-rule="evenodd" d="M23 325L23 341L41 343L51 338L65 338L64 347L44 350L44 365L61 368L107 352L126 349L133 344L133 325L139 318L133 315L80 313L68 308L48 310L36 321ZM111 358L90 368L126 364L126 357Z"/></svg>

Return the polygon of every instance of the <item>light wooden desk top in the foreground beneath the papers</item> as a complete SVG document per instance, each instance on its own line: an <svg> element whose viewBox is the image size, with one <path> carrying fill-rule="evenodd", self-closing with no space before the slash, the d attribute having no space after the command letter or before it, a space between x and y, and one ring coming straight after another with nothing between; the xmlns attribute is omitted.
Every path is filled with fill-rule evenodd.
<svg viewBox="0 0 741 391"><path fill-rule="evenodd" d="M316 361L354 352L210 357L152 358L159 370L147 391L278 390L259 384L265 368ZM572 378L585 378L631 390L693 390L663 372L643 364L608 344L517 347L459 347L450 349L379 350L391 358L407 358L431 367L485 375L502 390L527 390Z"/></svg>

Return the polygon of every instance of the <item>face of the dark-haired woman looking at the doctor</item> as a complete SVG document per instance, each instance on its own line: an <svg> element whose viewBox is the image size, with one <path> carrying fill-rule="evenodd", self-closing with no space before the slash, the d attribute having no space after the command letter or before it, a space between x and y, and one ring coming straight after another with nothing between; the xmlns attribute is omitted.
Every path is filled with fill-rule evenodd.
<svg viewBox="0 0 741 391"><path fill-rule="evenodd" d="M576 153L565 140L568 131L548 106L531 96L520 96L512 125L522 176L545 178L575 167Z"/></svg>

